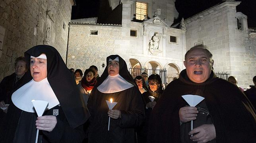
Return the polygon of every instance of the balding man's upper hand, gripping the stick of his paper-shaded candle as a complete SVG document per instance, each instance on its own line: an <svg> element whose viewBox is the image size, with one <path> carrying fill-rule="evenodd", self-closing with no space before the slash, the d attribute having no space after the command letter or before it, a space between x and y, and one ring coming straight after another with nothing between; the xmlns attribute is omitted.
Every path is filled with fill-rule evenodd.
<svg viewBox="0 0 256 143"><path fill-rule="evenodd" d="M198 111L196 107L185 106L180 108L178 115L180 117L180 121L184 123L196 120L197 113Z"/></svg>

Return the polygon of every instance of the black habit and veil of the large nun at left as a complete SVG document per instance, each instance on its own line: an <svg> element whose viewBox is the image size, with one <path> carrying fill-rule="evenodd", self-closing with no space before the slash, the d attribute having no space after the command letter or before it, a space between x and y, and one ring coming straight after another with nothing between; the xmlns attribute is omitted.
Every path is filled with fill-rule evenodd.
<svg viewBox="0 0 256 143"><path fill-rule="evenodd" d="M39 130L38 142L81 142L85 137L83 124L89 119L89 111L80 97L79 89L70 71L54 47L48 45L32 47L25 52L27 64L30 63L31 56L38 57L41 54L47 56L46 79L59 104L43 114L43 116L56 116L57 123L51 132ZM25 73L23 78L24 82L17 85L17 91L33 81L30 70ZM17 92L14 93L18 95ZM48 102L50 103L50 101ZM3 143L35 143L37 113L23 111L16 105L12 102L9 106L7 118L1 125L0 141Z"/></svg>

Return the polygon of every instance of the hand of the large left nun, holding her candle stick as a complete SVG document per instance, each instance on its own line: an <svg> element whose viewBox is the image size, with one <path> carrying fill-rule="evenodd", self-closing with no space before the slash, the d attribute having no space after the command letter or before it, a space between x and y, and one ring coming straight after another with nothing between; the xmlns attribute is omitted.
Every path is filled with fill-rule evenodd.
<svg viewBox="0 0 256 143"><path fill-rule="evenodd" d="M35 122L37 129L51 132L57 124L57 119L56 116L48 115L37 117Z"/></svg>

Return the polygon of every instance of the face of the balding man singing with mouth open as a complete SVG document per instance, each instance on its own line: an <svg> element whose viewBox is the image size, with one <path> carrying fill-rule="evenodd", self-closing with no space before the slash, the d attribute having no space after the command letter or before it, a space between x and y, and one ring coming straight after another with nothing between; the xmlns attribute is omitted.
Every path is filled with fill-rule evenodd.
<svg viewBox="0 0 256 143"><path fill-rule="evenodd" d="M188 53L184 66L188 78L194 83L203 83L211 74L213 60L208 57L204 49L193 49Z"/></svg>

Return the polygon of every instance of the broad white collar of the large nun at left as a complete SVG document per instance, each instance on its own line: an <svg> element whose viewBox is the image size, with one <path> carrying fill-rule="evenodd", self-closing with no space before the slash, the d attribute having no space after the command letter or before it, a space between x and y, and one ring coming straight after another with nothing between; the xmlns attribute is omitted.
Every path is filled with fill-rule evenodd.
<svg viewBox="0 0 256 143"><path fill-rule="evenodd" d="M47 101L49 103L47 110L60 103L47 78L39 82L32 79L12 94L12 102L16 107L23 111L35 113L31 100Z"/></svg>

